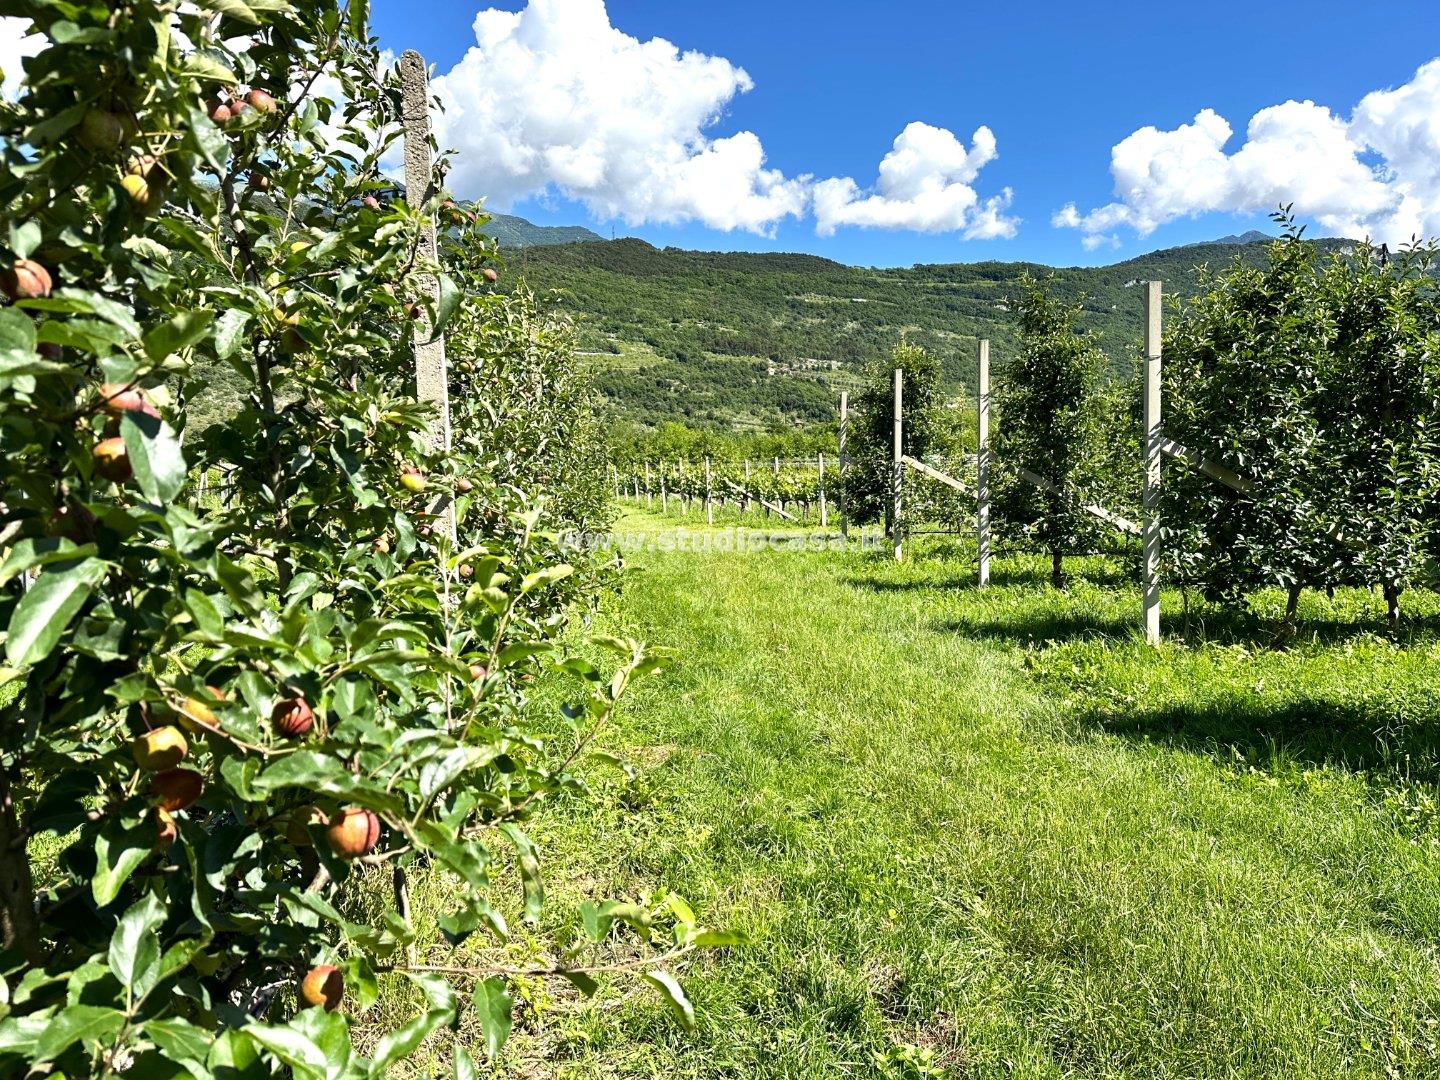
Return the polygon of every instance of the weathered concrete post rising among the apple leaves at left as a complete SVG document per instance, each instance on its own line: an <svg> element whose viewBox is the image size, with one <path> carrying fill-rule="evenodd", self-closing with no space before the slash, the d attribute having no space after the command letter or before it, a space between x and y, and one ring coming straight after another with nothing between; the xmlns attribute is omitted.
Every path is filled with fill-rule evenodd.
<svg viewBox="0 0 1440 1080"><path fill-rule="evenodd" d="M425 59L408 49L400 55L402 118L405 121L405 202L410 209L419 209L435 193L431 160L431 78ZM420 229L420 243L416 261L422 268L435 266L439 261L439 243L435 236L435 219L428 219ZM420 297L439 302L439 279L425 269L415 275ZM433 340L432 340L433 338ZM415 318L415 395L422 402L435 406L435 426L431 429L431 446L442 454L451 448L449 431L449 376L445 370L445 337L435 334L429 314L420 307ZM439 531L455 544L455 508L449 495L441 495L431 507L439 518Z"/></svg>

